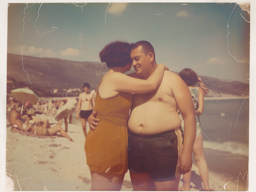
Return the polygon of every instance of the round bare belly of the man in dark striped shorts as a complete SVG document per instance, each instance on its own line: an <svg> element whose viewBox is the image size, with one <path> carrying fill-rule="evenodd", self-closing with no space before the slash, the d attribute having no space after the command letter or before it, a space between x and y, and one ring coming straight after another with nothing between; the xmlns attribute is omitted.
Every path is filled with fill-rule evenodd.
<svg viewBox="0 0 256 192"><path fill-rule="evenodd" d="M168 104L147 102L132 110L128 121L130 131L152 135L180 128L178 112Z"/></svg>

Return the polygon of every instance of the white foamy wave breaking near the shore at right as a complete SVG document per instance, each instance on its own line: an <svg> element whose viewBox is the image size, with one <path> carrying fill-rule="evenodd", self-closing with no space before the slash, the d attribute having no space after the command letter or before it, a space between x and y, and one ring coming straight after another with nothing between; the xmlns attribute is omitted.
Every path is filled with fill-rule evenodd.
<svg viewBox="0 0 256 192"><path fill-rule="evenodd" d="M233 141L227 141L224 143L203 141L204 148L214 149L219 151L227 151L232 154L249 155L249 145L246 143L238 143Z"/></svg>

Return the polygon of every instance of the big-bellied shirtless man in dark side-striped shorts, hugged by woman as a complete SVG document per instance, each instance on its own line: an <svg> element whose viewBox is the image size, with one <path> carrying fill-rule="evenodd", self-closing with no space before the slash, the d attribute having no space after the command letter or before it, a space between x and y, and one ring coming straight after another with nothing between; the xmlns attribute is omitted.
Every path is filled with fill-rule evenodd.
<svg viewBox="0 0 256 192"><path fill-rule="evenodd" d="M147 79L157 67L154 48L147 41L132 46L131 58L136 73L130 76ZM178 109L184 117L184 139ZM98 120L90 116L91 129L97 125L93 121ZM192 97L180 76L164 71L154 92L133 94L128 127L128 169L133 189L178 190L180 175L192 167L196 136Z"/></svg>

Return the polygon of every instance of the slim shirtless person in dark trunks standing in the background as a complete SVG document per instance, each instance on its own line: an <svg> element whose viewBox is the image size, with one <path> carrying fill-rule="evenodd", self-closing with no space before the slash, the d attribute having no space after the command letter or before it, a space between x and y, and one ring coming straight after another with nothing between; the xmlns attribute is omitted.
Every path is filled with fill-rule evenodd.
<svg viewBox="0 0 256 192"><path fill-rule="evenodd" d="M88 117L92 114L95 98L93 97L93 94L89 92L89 90L90 90L89 83L84 83L83 88L84 88L84 92L81 93L78 98L76 119L78 119L78 118L81 119L84 136L86 138L86 136L87 136L86 121L87 121ZM80 109L81 109L81 111L79 113Z"/></svg>

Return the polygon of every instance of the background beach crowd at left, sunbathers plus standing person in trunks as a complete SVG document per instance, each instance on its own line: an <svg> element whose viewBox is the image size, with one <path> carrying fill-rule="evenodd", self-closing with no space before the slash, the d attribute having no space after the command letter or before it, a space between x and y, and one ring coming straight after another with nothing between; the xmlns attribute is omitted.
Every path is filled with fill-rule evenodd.
<svg viewBox="0 0 256 192"><path fill-rule="evenodd" d="M81 119L83 132L86 137L86 121L88 116L92 114L94 103L93 94L88 92L89 90L90 84L85 83L84 92L80 94L79 98L63 98L52 100L51 102L40 100L34 105L30 101L25 101L22 105L21 102L15 100L13 97L9 97L6 102L7 119L12 127L26 133L39 136L52 136L60 132L62 137L73 141L67 134L68 123L72 123L72 113L77 111L76 118ZM81 112L78 114L79 111ZM44 114L44 117L40 118L36 114ZM51 127L48 117L53 117L58 121L54 123L56 124L55 126ZM63 120L65 130L60 126Z"/></svg>

